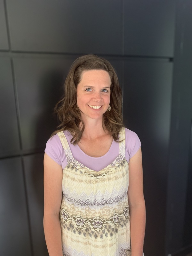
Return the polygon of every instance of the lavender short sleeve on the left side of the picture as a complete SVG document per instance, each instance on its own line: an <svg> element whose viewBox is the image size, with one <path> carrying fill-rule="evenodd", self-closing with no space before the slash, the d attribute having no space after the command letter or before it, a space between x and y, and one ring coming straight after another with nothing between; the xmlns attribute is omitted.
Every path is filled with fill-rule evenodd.
<svg viewBox="0 0 192 256"><path fill-rule="evenodd" d="M62 144L57 134L53 135L46 143L45 153L57 164L62 166Z"/></svg>

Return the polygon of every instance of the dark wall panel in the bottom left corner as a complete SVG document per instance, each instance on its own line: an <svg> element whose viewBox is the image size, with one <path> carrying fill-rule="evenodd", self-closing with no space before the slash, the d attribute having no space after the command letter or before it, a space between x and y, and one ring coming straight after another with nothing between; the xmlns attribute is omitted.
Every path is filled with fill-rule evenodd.
<svg viewBox="0 0 192 256"><path fill-rule="evenodd" d="M0 160L0 255L31 256L21 159Z"/></svg>

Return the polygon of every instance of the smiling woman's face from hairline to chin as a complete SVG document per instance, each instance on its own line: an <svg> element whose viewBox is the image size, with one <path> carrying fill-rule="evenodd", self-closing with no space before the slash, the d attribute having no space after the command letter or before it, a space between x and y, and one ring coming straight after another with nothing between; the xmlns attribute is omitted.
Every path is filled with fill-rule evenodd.
<svg viewBox="0 0 192 256"><path fill-rule="evenodd" d="M82 72L77 85L77 105L83 119L102 119L110 102L110 84L109 74L105 70Z"/></svg>

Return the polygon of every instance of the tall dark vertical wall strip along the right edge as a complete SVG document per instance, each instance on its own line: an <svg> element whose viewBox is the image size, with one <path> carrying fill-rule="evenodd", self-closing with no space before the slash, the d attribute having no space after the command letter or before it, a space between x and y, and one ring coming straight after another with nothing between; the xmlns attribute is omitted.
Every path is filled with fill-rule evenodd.
<svg viewBox="0 0 192 256"><path fill-rule="evenodd" d="M192 248L192 2L177 1L167 196L167 253ZM189 180L191 179L191 180Z"/></svg>

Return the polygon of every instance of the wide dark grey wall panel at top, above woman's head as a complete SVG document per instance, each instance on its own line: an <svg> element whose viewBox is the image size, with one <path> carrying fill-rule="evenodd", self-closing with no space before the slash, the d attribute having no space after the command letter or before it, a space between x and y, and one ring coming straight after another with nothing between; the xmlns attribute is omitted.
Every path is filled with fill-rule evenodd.
<svg viewBox="0 0 192 256"><path fill-rule="evenodd" d="M121 53L121 1L7 0L12 50Z"/></svg>

